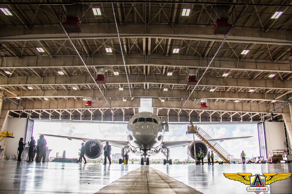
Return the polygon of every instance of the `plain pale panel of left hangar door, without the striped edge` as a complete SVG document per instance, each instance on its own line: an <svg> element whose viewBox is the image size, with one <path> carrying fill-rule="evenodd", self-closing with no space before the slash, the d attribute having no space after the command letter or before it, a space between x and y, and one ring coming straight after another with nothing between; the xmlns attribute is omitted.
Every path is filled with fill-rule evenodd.
<svg viewBox="0 0 292 194"><path fill-rule="evenodd" d="M17 148L20 138L25 138L27 118L10 118L8 117L2 130L13 132L14 138L7 138L4 154L6 154L8 160L11 155L15 154L17 157ZM5 139L1 142L4 146ZM26 142L24 142L26 143Z"/></svg>

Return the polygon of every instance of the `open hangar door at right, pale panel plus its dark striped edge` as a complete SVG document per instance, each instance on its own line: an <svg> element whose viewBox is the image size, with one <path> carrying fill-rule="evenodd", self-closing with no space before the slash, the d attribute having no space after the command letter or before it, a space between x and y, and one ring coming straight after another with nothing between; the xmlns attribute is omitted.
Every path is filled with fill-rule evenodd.
<svg viewBox="0 0 292 194"><path fill-rule="evenodd" d="M270 150L286 150L288 137L284 122L261 122L258 124L260 156L269 157Z"/></svg>

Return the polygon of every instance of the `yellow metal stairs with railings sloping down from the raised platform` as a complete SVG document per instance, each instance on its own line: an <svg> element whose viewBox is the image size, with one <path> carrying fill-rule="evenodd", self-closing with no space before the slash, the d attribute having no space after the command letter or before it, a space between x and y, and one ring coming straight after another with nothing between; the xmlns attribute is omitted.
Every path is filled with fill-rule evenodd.
<svg viewBox="0 0 292 194"><path fill-rule="evenodd" d="M230 155L215 140L213 140L203 129L197 127L198 133L195 133L209 148L215 152L224 162L230 163L233 155Z"/></svg>

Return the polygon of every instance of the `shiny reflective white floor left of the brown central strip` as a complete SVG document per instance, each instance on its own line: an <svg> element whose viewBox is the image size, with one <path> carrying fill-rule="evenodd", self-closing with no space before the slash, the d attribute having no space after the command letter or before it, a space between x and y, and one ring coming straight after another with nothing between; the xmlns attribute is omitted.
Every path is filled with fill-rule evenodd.
<svg viewBox="0 0 292 194"><path fill-rule="evenodd" d="M0 193L96 193L140 165L0 161Z"/></svg>

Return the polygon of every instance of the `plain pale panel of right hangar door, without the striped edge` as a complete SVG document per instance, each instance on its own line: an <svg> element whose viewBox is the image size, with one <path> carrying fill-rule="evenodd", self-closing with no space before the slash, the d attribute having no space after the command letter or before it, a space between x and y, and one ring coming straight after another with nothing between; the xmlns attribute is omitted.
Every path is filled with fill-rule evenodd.
<svg viewBox="0 0 292 194"><path fill-rule="evenodd" d="M268 155L269 150L285 149L284 122L265 122L265 136Z"/></svg>

